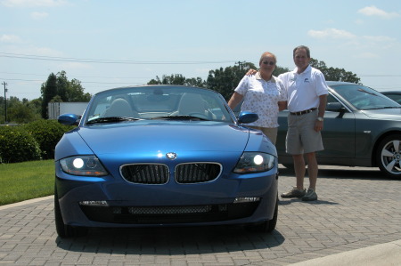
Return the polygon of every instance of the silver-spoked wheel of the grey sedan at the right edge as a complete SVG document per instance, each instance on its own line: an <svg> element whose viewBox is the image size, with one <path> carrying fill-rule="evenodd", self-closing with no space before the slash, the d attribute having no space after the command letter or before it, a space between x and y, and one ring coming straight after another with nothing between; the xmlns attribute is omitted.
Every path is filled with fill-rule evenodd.
<svg viewBox="0 0 401 266"><path fill-rule="evenodd" d="M401 178L401 135L389 135L380 142L376 161L390 178Z"/></svg>

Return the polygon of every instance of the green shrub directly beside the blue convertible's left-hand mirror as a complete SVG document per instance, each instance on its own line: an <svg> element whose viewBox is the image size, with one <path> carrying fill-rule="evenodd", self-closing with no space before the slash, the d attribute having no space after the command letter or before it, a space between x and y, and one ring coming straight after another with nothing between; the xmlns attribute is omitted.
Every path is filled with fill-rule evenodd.
<svg viewBox="0 0 401 266"><path fill-rule="evenodd" d="M37 120L23 127L37 140L43 159L53 159L57 142L64 133L74 128L74 126L61 125L56 120Z"/></svg>

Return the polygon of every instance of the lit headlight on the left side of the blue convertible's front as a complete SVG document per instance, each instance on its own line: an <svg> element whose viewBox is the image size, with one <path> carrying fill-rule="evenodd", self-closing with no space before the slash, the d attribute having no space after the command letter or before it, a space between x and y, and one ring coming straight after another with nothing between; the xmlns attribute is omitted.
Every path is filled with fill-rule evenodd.
<svg viewBox="0 0 401 266"><path fill-rule="evenodd" d="M94 155L67 157L60 160L62 171L73 175L103 176L107 171Z"/></svg>

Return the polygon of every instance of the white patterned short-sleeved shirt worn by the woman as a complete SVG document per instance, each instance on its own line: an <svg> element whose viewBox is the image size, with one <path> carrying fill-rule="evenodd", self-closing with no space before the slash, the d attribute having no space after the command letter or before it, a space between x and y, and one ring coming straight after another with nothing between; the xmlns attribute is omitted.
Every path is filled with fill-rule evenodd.
<svg viewBox="0 0 401 266"><path fill-rule="evenodd" d="M236 93L243 96L241 111L250 111L258 114L258 120L247 125L274 128L278 127L278 101L287 101L287 93L282 81L272 77L269 81L259 76L242 77L235 88Z"/></svg>

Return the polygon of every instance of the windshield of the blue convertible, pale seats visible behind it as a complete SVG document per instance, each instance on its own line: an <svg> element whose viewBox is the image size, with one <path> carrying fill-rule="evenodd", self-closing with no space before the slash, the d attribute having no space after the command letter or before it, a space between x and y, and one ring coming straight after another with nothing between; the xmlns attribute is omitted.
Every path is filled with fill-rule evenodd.
<svg viewBox="0 0 401 266"><path fill-rule="evenodd" d="M86 124L151 120L233 122L224 98L216 92L186 86L138 86L97 93Z"/></svg>

